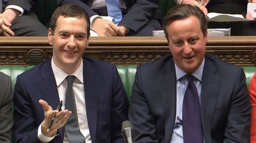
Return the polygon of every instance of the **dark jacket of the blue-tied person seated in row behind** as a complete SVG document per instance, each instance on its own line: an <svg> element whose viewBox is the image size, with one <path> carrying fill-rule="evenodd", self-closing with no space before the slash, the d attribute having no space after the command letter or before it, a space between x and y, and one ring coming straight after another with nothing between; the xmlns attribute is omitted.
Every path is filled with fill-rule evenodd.
<svg viewBox="0 0 256 143"><path fill-rule="evenodd" d="M90 6L93 0L58 0L61 5L75 4L84 8L89 16L97 15ZM158 10L160 0L124 0L127 14L123 16L119 25L125 25L127 28L132 29L135 33L139 31L144 25L155 18L155 11Z"/></svg>

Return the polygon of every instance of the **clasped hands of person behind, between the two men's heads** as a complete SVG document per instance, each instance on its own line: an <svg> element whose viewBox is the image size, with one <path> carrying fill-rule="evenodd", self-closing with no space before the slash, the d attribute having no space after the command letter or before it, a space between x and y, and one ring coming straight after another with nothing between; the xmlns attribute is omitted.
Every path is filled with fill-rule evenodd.
<svg viewBox="0 0 256 143"><path fill-rule="evenodd" d="M125 36L123 29L113 22L101 18L95 18L92 22L92 29L98 36Z"/></svg>

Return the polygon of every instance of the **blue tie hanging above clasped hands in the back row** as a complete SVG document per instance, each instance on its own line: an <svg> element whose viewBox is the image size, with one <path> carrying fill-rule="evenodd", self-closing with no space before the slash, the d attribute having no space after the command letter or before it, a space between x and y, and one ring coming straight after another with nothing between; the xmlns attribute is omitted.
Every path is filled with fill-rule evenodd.
<svg viewBox="0 0 256 143"><path fill-rule="evenodd" d="M113 18L113 23L117 25L122 20L122 11L119 0L106 0L108 16Z"/></svg>

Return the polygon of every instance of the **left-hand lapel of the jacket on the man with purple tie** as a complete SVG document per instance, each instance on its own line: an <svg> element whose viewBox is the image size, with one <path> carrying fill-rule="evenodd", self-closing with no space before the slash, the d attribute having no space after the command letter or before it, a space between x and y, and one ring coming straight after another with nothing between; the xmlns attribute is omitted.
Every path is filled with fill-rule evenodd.
<svg viewBox="0 0 256 143"><path fill-rule="evenodd" d="M165 120L165 140L166 142L170 142L176 116L176 75L174 60L169 60L162 72L163 75L160 77L160 82Z"/></svg>

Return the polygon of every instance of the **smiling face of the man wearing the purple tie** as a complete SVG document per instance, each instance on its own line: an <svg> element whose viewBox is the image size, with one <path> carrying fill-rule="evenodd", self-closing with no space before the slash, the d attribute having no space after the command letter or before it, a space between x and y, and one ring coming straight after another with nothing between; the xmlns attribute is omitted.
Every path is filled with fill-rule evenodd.
<svg viewBox="0 0 256 143"><path fill-rule="evenodd" d="M200 67L204 59L207 34L204 36L195 16L176 20L167 25L169 48L174 62L187 73Z"/></svg>

